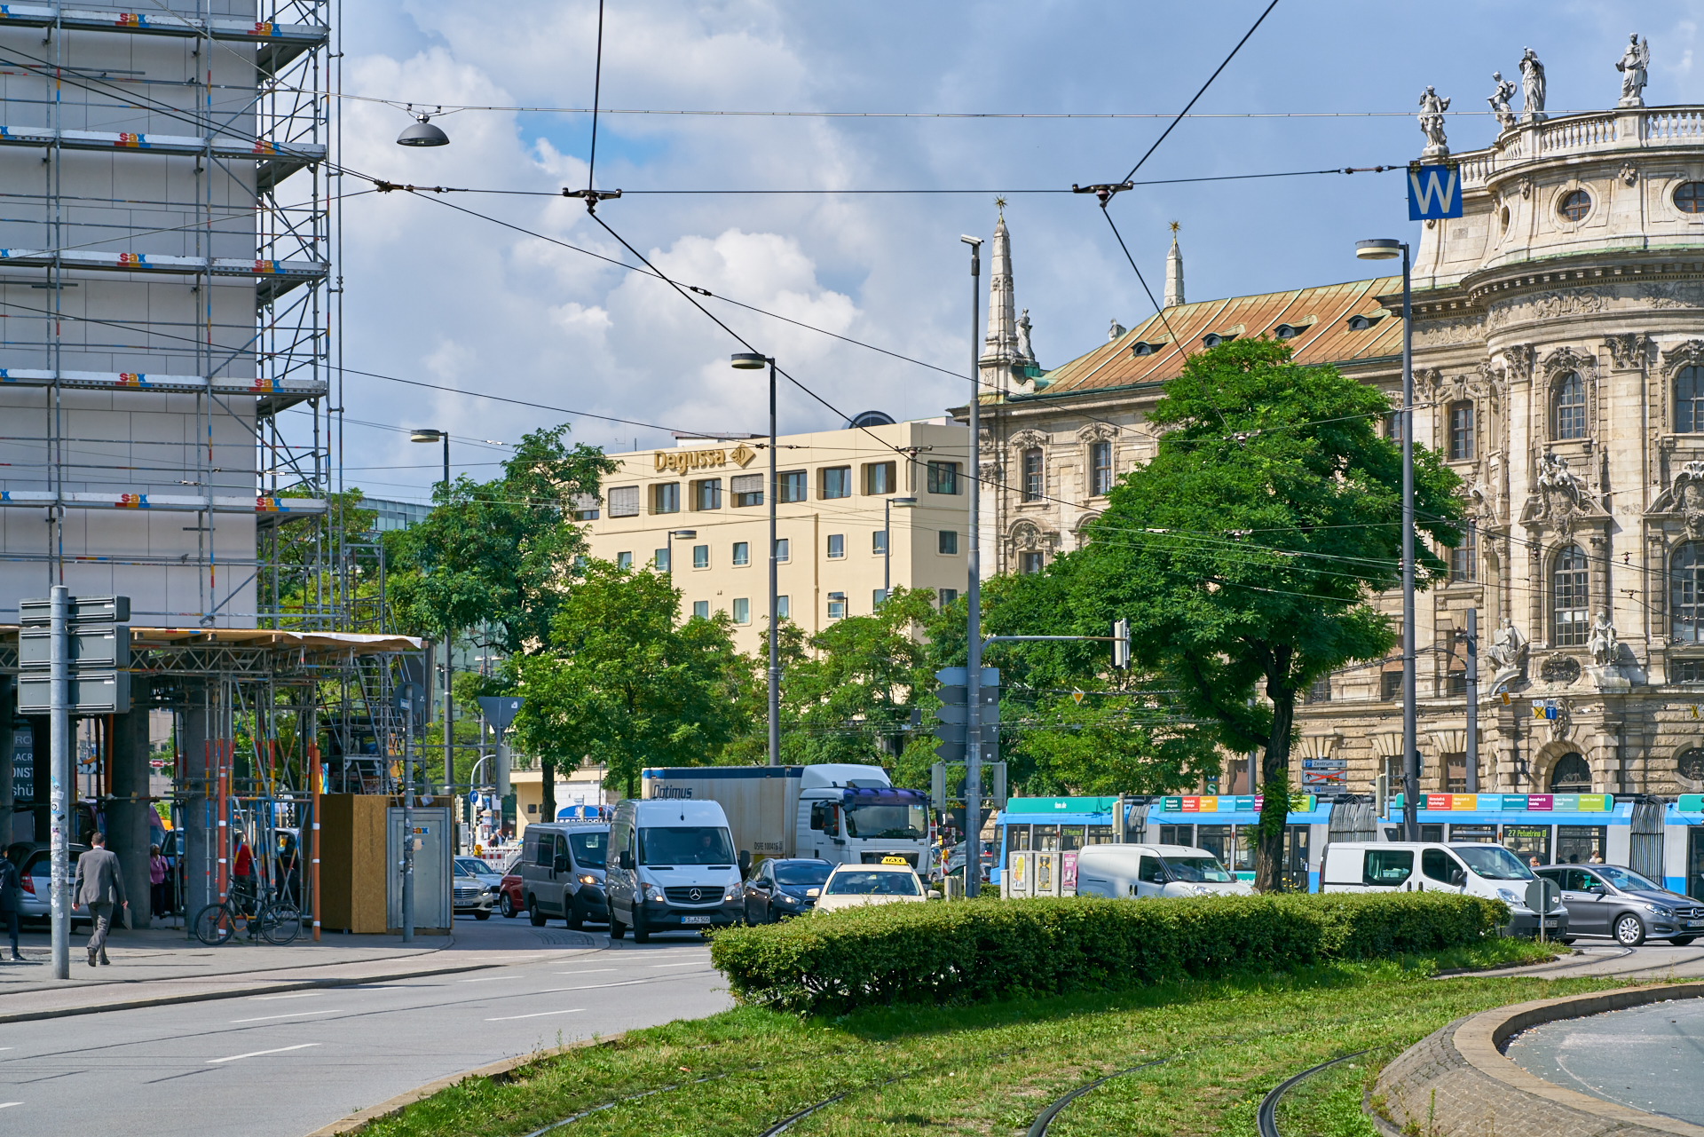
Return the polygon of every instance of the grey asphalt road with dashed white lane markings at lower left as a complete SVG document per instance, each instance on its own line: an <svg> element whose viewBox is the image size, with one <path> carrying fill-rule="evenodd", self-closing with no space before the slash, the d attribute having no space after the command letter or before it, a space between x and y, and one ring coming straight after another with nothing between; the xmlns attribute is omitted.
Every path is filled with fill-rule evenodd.
<svg viewBox="0 0 1704 1137"><path fill-rule="evenodd" d="M591 939L465 975L14 1024L0 1040L0 1132L302 1137L559 1040L733 1006L697 938Z"/></svg>

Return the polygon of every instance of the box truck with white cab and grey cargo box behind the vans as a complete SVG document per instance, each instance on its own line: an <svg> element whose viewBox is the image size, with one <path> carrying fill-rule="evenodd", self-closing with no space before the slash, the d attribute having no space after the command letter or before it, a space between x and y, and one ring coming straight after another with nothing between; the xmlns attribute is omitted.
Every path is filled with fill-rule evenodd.
<svg viewBox="0 0 1704 1137"><path fill-rule="evenodd" d="M649 799L714 801L743 861L821 857L929 869L929 794L895 789L879 765L670 765L641 774Z"/></svg>

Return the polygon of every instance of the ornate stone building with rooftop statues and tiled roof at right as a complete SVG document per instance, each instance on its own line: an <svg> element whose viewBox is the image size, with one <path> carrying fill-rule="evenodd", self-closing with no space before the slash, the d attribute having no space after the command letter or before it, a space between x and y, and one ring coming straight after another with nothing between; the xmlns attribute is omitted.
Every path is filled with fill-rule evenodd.
<svg viewBox="0 0 1704 1137"><path fill-rule="evenodd" d="M1547 119L1537 75L1525 113L1450 159L1464 216L1426 222L1414 251L1416 440L1460 474L1474 522L1450 580L1419 597L1421 784L1465 789L1462 634L1477 609L1477 789L1699 793L1704 107L1644 107L1641 72L1617 109ZM1440 145L1442 119L1423 128ZM1344 263L1361 235L1339 235ZM1186 303L1174 244L1162 312L1041 370L1028 327L1022 349L1005 331L1004 222L993 257L990 571L1039 571L1082 542L1113 481L1154 452L1145 413L1189 351L1271 336L1399 401L1399 278ZM1397 595L1384 602L1399 614ZM1401 750L1399 675L1392 656L1317 685L1300 755L1346 759L1344 788L1365 793ZM1241 762L1227 765L1234 789Z"/></svg>

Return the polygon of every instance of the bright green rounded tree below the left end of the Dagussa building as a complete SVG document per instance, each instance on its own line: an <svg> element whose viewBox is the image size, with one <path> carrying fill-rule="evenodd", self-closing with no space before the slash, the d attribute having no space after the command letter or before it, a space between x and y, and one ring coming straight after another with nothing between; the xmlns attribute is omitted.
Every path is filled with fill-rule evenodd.
<svg viewBox="0 0 1704 1137"><path fill-rule="evenodd" d="M750 731L751 660L734 651L728 615L682 624L676 612L680 590L661 573L590 561L544 648L508 661L527 699L516 745L547 777L590 757L634 796L641 767L707 765Z"/></svg>

